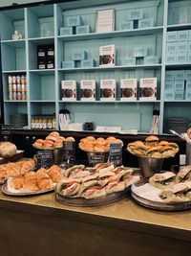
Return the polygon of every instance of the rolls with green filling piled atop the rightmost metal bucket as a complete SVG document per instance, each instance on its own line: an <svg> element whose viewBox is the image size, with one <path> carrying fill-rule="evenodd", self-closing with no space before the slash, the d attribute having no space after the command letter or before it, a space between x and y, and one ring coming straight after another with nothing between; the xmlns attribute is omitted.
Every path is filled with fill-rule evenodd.
<svg viewBox="0 0 191 256"><path fill-rule="evenodd" d="M179 146L174 142L159 141L158 136L150 135L144 142L129 143L127 150L138 156L167 158L174 156L179 151Z"/></svg>

